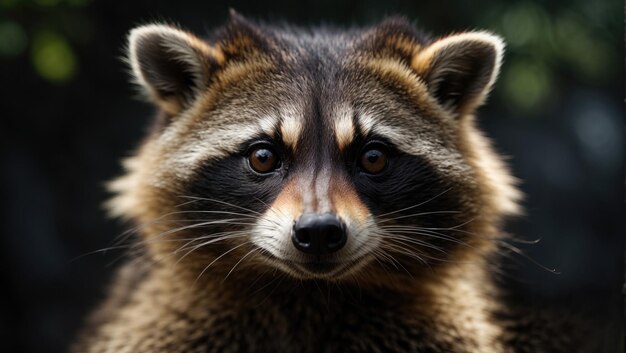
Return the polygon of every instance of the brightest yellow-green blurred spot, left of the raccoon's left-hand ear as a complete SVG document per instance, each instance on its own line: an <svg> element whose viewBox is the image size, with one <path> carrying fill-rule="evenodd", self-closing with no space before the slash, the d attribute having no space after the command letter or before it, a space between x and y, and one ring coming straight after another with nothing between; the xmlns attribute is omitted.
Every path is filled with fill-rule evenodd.
<svg viewBox="0 0 626 353"><path fill-rule="evenodd" d="M77 70L76 57L69 43L50 31L40 32L35 37L32 61L37 73L53 82L68 81Z"/></svg>

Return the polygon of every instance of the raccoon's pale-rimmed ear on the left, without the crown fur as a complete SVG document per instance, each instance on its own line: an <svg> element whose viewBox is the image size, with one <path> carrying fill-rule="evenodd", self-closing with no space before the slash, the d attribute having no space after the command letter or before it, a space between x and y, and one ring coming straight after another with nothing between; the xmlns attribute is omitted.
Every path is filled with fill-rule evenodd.
<svg viewBox="0 0 626 353"><path fill-rule="evenodd" d="M193 34L168 25L146 25L128 36L128 61L136 82L167 113L188 106L210 82L223 55Z"/></svg>

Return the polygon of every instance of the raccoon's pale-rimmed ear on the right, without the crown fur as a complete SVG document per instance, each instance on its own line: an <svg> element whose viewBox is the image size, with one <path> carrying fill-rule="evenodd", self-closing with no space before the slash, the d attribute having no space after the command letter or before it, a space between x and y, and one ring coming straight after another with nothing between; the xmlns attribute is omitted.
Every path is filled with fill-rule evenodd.
<svg viewBox="0 0 626 353"><path fill-rule="evenodd" d="M424 47L411 66L440 104L462 116L487 98L500 72L503 52L504 42L496 35L461 33Z"/></svg>

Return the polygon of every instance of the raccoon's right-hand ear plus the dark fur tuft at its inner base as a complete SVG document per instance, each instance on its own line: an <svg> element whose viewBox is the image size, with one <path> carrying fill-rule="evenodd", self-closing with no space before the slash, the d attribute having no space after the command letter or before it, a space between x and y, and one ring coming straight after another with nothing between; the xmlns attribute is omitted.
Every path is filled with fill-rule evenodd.
<svg viewBox="0 0 626 353"><path fill-rule="evenodd" d="M400 60L424 81L439 104L460 116L485 101L500 71L504 42L480 31L433 41L406 19L391 17L366 32L357 48Z"/></svg>

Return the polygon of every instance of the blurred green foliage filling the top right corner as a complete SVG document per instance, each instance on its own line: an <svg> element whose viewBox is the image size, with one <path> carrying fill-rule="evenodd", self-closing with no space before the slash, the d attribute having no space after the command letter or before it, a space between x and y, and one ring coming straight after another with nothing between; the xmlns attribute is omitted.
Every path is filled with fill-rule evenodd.
<svg viewBox="0 0 626 353"><path fill-rule="evenodd" d="M507 104L533 111L562 85L613 80L621 56L611 32L621 21L615 13L621 8L608 1L512 1L492 10L485 25L508 44L502 72Z"/></svg>

